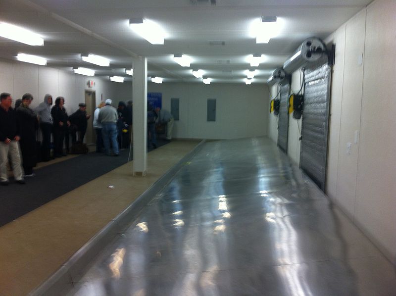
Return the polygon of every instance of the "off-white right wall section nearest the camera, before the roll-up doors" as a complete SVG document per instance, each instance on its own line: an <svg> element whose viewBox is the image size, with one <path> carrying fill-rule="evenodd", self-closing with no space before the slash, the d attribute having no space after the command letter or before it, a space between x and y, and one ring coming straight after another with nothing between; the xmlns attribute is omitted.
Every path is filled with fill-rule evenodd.
<svg viewBox="0 0 396 296"><path fill-rule="evenodd" d="M326 188L329 197L394 263L395 15L395 1L377 0L329 37L337 52ZM356 132L360 134L357 143ZM350 154L347 143L352 145Z"/></svg>

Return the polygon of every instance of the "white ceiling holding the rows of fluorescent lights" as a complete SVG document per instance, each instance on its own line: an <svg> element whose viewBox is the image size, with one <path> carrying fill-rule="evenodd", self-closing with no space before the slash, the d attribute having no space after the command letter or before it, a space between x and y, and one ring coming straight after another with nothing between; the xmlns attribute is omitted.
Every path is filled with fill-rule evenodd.
<svg viewBox="0 0 396 296"><path fill-rule="evenodd" d="M214 0L212 0L214 1ZM96 70L97 76L124 75L134 55L148 58L148 76L166 82L201 82L191 69L202 69L212 83L240 82L250 66L247 56L265 54L253 83L264 83L305 38L326 38L371 0L0 0L0 21L28 28L44 38L32 47L0 37L0 57L18 52L48 59L48 66ZM251 22L276 15L282 22L278 37L256 44ZM164 45L151 45L134 34L129 19L145 17L160 24ZM224 41L225 45L209 45ZM81 53L110 59L110 67L80 60ZM192 57L190 68L173 61L173 54ZM189 70L190 69L190 70Z"/></svg>

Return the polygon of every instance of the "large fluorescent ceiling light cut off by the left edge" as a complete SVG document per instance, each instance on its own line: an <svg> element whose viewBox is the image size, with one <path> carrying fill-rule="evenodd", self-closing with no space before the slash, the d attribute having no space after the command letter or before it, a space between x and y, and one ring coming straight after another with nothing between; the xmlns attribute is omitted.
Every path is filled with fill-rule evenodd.
<svg viewBox="0 0 396 296"><path fill-rule="evenodd" d="M0 36L32 46L44 45L44 39L38 34L7 23L0 23Z"/></svg>

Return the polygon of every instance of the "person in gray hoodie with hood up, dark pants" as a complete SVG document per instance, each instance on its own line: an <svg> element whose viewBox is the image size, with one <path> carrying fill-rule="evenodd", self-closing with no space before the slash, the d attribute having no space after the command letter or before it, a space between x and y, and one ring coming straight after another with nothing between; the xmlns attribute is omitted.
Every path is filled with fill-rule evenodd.
<svg viewBox="0 0 396 296"><path fill-rule="evenodd" d="M49 161L52 133L52 115L51 115L52 96L47 94L44 97L44 102L41 102L35 109L39 116L40 129L43 136L43 143L41 144L41 158L43 161Z"/></svg>

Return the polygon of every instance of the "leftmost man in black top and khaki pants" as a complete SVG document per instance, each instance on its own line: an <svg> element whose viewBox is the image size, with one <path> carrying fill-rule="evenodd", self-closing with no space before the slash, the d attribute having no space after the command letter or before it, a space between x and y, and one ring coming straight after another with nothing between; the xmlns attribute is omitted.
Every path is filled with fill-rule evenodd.
<svg viewBox="0 0 396 296"><path fill-rule="evenodd" d="M14 179L25 184L19 156L19 129L16 112L11 107L12 98L8 93L0 94L0 184L8 185L6 164L9 158Z"/></svg>

